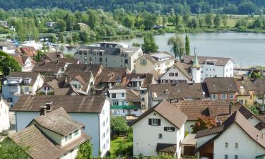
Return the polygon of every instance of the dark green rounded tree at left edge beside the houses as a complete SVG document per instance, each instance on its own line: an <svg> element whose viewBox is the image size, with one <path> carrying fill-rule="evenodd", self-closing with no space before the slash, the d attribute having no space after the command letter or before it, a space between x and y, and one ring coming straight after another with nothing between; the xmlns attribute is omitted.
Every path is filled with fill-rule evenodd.
<svg viewBox="0 0 265 159"><path fill-rule="evenodd" d="M22 68L13 57L6 57L0 61L0 71L8 76L11 71L22 71Z"/></svg>

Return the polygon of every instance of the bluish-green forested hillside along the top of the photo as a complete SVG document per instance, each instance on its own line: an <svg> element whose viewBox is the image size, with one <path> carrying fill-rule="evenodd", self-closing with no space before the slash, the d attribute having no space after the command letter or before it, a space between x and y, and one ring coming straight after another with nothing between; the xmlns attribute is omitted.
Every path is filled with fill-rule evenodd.
<svg viewBox="0 0 265 159"><path fill-rule="evenodd" d="M160 11L161 13L230 13L261 14L265 10L264 0L0 0L0 8L66 8L71 11L85 11L88 8L102 8L114 11Z"/></svg>

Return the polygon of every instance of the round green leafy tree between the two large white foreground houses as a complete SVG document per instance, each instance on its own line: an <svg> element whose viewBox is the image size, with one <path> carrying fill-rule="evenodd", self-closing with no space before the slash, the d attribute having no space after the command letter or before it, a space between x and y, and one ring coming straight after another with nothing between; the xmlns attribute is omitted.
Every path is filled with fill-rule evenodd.
<svg viewBox="0 0 265 159"><path fill-rule="evenodd" d="M110 118L110 129L112 132L119 134L126 133L129 131L129 127L126 124L124 117L111 117Z"/></svg>

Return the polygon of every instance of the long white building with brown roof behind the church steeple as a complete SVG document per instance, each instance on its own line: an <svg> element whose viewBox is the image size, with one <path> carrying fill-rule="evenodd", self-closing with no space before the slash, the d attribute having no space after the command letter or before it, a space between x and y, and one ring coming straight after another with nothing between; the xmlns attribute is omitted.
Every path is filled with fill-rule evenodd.
<svg viewBox="0 0 265 159"><path fill-rule="evenodd" d="M182 63L192 66L196 56L183 56ZM207 77L232 77L234 76L234 62L224 57L200 57L198 64L201 66L201 82ZM192 67L193 68L193 67Z"/></svg>

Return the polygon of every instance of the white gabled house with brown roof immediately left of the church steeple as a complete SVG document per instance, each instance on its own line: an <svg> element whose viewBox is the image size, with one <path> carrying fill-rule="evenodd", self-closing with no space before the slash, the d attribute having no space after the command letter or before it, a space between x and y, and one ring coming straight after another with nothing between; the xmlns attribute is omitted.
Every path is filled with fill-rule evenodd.
<svg viewBox="0 0 265 159"><path fill-rule="evenodd" d="M192 81L192 75L184 69L180 61L173 64L158 79L158 83L189 83L190 81Z"/></svg>

